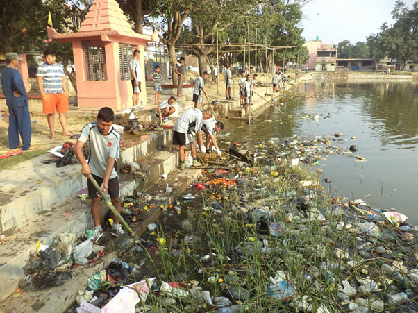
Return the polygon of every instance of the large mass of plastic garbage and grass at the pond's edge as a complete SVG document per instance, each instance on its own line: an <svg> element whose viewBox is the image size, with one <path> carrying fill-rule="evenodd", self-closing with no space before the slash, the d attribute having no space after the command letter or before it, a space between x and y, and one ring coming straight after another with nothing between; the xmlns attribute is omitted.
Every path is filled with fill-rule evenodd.
<svg viewBox="0 0 418 313"><path fill-rule="evenodd" d="M152 264L141 268L156 289L142 310L418 312L418 228L394 209L329 197L285 149L261 144L247 151L253 167L207 169L181 214L149 228ZM120 256L131 268L133 254Z"/></svg>

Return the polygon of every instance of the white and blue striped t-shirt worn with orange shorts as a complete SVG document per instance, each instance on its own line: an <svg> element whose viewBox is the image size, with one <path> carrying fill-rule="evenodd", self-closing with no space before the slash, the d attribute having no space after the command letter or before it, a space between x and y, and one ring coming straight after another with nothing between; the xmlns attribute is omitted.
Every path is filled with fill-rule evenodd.
<svg viewBox="0 0 418 313"><path fill-rule="evenodd" d="M64 92L62 89L62 77L65 76L62 65L44 63L37 68L36 76L42 76L42 85L44 87L45 94L61 94Z"/></svg>

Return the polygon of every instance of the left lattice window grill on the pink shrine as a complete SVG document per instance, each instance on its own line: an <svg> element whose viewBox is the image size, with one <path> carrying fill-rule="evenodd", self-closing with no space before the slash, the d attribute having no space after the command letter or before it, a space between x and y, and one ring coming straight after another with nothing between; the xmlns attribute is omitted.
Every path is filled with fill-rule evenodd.
<svg viewBox="0 0 418 313"><path fill-rule="evenodd" d="M83 41L82 46L85 81L107 81L104 46L94 46L87 41Z"/></svg>

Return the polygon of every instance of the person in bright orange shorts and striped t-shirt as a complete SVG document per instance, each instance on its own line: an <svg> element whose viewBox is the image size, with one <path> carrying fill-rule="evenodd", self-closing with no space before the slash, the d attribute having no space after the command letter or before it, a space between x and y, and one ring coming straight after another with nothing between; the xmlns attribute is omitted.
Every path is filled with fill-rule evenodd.
<svg viewBox="0 0 418 313"><path fill-rule="evenodd" d="M62 134L72 136L67 129L67 115L69 110L67 84L65 83L65 73L62 65L56 62L55 51L48 49L44 52L47 62L37 68L37 85L42 96L43 111L47 114L48 126L51 131L51 139L56 139L55 135L55 111L58 112L62 126Z"/></svg>

